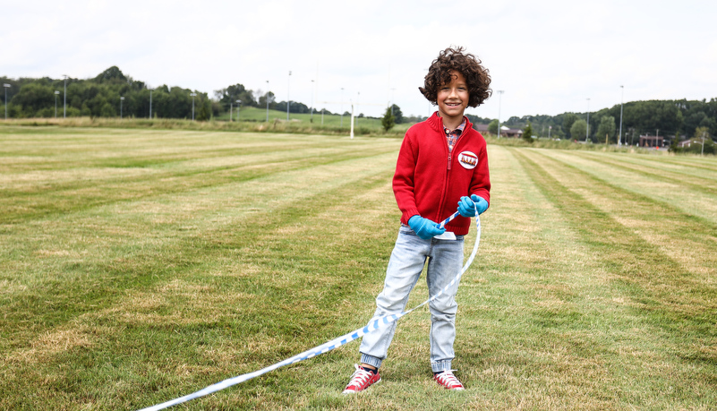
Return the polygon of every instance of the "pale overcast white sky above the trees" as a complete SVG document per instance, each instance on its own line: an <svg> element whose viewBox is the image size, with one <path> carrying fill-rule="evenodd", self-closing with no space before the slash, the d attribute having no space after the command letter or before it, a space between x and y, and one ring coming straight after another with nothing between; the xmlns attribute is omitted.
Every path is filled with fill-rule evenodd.
<svg viewBox="0 0 717 411"><path fill-rule="evenodd" d="M475 116L717 98L713 0L0 0L0 11L10 78L88 79L116 65L209 97L241 83L332 112L382 116L393 102L428 116L418 87L458 46L491 73L492 97L466 110Z"/></svg>

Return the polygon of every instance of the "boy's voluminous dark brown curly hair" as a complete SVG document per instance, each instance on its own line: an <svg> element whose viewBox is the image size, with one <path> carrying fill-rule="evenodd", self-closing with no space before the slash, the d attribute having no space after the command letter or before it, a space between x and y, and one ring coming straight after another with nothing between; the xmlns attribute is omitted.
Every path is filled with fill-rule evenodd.
<svg viewBox="0 0 717 411"><path fill-rule="evenodd" d="M461 73L465 77L468 86L469 107L478 107L491 97L491 74L488 73L487 68L482 66L481 60L472 54L464 53L464 50L464 47L448 47L441 51L438 58L431 63L425 83L418 90L432 104L437 104L439 87L452 80L450 76L452 71Z"/></svg>

